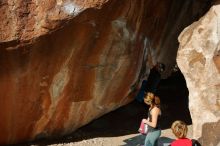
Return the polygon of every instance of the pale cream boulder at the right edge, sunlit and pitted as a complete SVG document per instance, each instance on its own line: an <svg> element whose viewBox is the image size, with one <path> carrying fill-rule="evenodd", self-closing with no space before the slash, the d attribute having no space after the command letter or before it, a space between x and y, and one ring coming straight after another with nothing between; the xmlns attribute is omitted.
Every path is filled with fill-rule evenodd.
<svg viewBox="0 0 220 146"><path fill-rule="evenodd" d="M189 89L193 136L220 144L220 5L213 6L179 36L177 62Z"/></svg>

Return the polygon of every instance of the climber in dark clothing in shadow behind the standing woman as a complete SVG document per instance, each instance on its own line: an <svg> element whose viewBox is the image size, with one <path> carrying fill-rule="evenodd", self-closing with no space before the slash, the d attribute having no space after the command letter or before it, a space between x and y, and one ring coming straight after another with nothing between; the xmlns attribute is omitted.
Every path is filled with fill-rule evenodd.
<svg viewBox="0 0 220 146"><path fill-rule="evenodd" d="M156 93L157 87L160 83L161 73L164 72L165 65L163 63L157 62L156 65L150 70L150 74L147 80L143 80L141 89L136 96L136 100L143 102L144 95L148 92Z"/></svg>

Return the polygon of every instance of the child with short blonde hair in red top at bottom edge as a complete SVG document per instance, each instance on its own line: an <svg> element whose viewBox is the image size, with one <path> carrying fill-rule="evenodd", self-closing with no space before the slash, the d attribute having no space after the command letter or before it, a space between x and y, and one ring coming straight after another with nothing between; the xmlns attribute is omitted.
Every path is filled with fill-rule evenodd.
<svg viewBox="0 0 220 146"><path fill-rule="evenodd" d="M192 141L186 138L188 128L185 122L175 121L171 129L173 134L177 137L177 140L173 141L171 146L192 146Z"/></svg>

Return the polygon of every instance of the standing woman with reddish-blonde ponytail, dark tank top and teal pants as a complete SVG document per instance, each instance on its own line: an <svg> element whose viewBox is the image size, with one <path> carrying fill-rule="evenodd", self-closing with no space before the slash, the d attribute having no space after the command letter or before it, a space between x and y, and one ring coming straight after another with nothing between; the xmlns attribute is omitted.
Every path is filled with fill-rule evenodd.
<svg viewBox="0 0 220 146"><path fill-rule="evenodd" d="M148 125L148 133L145 138L144 146L154 146L161 135L160 129L160 98L153 93L148 92L144 97L144 102L150 105L148 118L143 119L144 124Z"/></svg>

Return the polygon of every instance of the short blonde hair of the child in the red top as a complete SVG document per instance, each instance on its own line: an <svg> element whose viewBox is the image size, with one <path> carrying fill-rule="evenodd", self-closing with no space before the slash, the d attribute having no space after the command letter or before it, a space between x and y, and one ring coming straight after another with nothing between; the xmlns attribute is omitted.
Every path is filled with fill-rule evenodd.
<svg viewBox="0 0 220 146"><path fill-rule="evenodd" d="M185 122L183 121L175 121L173 122L171 129L173 131L173 134L177 137L177 138L186 138L187 135L187 125Z"/></svg>

